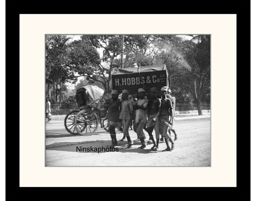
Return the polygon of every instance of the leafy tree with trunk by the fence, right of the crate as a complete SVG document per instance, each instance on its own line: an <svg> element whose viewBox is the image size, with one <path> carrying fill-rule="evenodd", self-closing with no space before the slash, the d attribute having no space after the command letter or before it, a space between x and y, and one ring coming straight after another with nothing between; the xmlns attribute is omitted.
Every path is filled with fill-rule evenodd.
<svg viewBox="0 0 256 201"><path fill-rule="evenodd" d="M179 79L180 86L193 96L199 115L202 115L200 104L203 93L206 88L210 88L210 39L210 35L197 35L175 45L191 70L182 67L174 71L174 74Z"/></svg>

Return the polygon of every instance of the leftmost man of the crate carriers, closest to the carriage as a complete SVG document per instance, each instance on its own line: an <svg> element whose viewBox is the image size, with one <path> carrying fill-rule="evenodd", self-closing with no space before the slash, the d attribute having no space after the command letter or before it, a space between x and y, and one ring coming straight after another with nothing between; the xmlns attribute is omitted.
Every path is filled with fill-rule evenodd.
<svg viewBox="0 0 256 201"><path fill-rule="evenodd" d="M112 99L110 99L103 106L108 111L109 132L110 132L110 137L112 140L111 146L115 147L116 145L118 145L117 140L116 140L115 128L120 127L120 123L119 123L119 103L120 102L118 100L118 96L119 96L118 91L112 90L111 96L112 96Z"/></svg>

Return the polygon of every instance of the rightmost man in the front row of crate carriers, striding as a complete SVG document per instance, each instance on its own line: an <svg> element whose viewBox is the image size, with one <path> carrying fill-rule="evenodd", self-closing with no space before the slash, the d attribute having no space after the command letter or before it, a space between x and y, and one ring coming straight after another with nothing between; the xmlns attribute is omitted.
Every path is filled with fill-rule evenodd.
<svg viewBox="0 0 256 201"><path fill-rule="evenodd" d="M156 137L156 147L153 149L153 151L158 150L160 133L164 136L164 140L167 146L167 148L164 149L163 151L171 151L174 148L172 138L167 134L168 123L170 118L172 117L172 100L166 97L167 91L168 91L168 87L161 88L161 96L162 96L161 107L160 107L159 115L156 118L155 127L154 127L155 137ZM169 146L168 139L171 140L172 149Z"/></svg>

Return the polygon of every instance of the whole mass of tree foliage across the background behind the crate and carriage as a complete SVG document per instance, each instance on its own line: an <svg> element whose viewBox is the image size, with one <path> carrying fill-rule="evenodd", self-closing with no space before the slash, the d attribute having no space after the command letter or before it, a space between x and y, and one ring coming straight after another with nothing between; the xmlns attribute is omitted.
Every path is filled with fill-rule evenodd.
<svg viewBox="0 0 256 201"><path fill-rule="evenodd" d="M46 83L56 101L65 98L63 83L111 89L120 67L120 35L82 35L70 43L65 35L46 36ZM177 101L198 105L210 100L210 35L191 40L177 35L124 35L124 67L166 64ZM193 97L193 98L192 98Z"/></svg>

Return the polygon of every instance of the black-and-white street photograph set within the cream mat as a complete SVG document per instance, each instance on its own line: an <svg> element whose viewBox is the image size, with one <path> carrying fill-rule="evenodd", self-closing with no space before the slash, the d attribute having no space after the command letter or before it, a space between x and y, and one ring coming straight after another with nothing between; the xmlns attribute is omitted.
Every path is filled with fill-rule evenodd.
<svg viewBox="0 0 256 201"><path fill-rule="evenodd" d="M211 167L211 34L45 34L45 167Z"/></svg>

